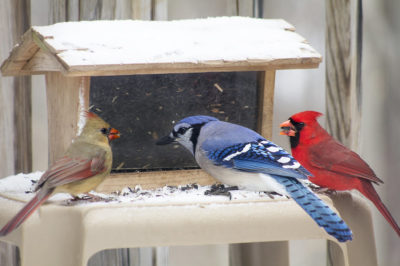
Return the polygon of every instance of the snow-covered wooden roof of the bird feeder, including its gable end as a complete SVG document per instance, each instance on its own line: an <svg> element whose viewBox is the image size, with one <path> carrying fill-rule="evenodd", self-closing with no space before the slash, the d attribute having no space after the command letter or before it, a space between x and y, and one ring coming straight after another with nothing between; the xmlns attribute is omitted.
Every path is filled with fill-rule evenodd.
<svg viewBox="0 0 400 266"><path fill-rule="evenodd" d="M35 26L3 75L100 76L314 68L321 55L281 19L81 21Z"/></svg>

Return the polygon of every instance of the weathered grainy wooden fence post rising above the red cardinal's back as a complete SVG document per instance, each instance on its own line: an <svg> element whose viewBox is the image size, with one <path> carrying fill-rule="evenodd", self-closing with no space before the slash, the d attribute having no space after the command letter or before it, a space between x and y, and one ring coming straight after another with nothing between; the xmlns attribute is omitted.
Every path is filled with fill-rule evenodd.
<svg viewBox="0 0 400 266"><path fill-rule="evenodd" d="M327 1L327 129L357 150L361 123L361 0Z"/></svg>

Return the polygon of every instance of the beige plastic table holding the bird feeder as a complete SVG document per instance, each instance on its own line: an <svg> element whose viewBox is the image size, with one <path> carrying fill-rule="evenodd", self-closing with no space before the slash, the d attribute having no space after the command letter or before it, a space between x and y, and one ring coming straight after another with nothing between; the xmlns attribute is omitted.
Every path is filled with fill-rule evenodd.
<svg viewBox="0 0 400 266"><path fill-rule="evenodd" d="M333 265L376 265L371 214L359 197L334 196L336 210L354 232L354 240L345 244L326 234L291 199L215 201L220 197L203 197L207 199L46 204L1 240L20 248L21 266L83 266L96 252L114 248L295 239L336 243L330 250ZM322 198L333 207L327 196ZM0 223L4 224L22 205L0 198Z"/></svg>

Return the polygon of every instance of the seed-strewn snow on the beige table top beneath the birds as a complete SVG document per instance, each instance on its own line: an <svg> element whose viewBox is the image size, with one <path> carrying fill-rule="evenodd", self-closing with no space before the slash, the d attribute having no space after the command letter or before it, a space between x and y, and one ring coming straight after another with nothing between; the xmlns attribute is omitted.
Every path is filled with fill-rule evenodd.
<svg viewBox="0 0 400 266"><path fill-rule="evenodd" d="M43 172L29 174L18 174L0 179L0 196L17 201L28 201L34 195L37 181ZM146 204L185 204L185 203L217 203L217 202L247 202L271 200L271 196L263 192L245 190L230 191L232 198L227 196L205 195L210 186L199 186L196 184L186 186L165 186L154 190L144 190L140 186L135 188L123 188L111 194L90 192L97 199L82 197L82 200L72 200L69 194L59 193L50 198L50 201L63 205L75 204L101 204L101 203L127 203L133 202L138 205ZM286 199L282 196L273 196L275 199Z"/></svg>

